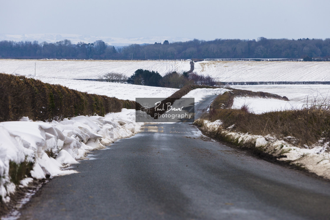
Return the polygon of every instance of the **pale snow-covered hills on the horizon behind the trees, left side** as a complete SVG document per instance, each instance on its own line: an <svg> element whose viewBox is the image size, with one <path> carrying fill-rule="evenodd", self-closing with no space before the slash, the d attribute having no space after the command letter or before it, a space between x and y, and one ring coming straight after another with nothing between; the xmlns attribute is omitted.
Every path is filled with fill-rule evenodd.
<svg viewBox="0 0 330 220"><path fill-rule="evenodd" d="M79 42L93 43L97 40L102 40L105 43L113 46L127 46L130 44L154 44L163 43L165 40L172 42L185 42L193 40L191 38L180 37L136 37L136 38L116 38L116 37L103 37L103 36L90 36L79 34L0 34L0 41L44 41L48 43L55 43L64 39L70 40L72 43Z"/></svg>

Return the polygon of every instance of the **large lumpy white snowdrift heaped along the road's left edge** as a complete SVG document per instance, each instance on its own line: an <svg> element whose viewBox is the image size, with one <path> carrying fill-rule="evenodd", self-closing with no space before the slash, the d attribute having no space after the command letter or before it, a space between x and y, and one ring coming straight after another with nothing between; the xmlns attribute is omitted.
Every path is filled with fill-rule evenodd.
<svg viewBox="0 0 330 220"><path fill-rule="evenodd" d="M16 185L9 176L9 162L17 165L33 163L31 176L36 179L77 173L62 170L79 163L89 150L103 149L105 145L138 133L143 123L135 122L135 110L101 116L77 116L63 121L41 122L8 121L0 123L0 196L10 201ZM20 181L27 186L32 178Z"/></svg>

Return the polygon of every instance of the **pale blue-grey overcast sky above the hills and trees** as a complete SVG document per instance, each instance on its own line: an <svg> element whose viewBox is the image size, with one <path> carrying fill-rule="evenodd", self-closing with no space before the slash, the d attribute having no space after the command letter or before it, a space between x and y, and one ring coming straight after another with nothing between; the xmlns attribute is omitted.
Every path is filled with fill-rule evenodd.
<svg viewBox="0 0 330 220"><path fill-rule="evenodd" d="M0 0L2 34L330 38L329 0Z"/></svg>

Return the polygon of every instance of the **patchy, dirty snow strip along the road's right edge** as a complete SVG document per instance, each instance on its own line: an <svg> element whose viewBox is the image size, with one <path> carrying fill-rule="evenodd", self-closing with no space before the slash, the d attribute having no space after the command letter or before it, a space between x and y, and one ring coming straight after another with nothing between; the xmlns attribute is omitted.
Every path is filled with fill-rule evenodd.
<svg viewBox="0 0 330 220"><path fill-rule="evenodd" d="M255 148L278 157L278 160L289 161L292 164L306 168L312 173L330 179L330 152L327 151L330 142L324 143L320 140L312 146L304 145L305 148L299 148L288 142L288 140L294 139L294 137L278 140L271 135L261 136L233 132L231 131L233 126L222 128L220 120L210 122L198 119L195 122L202 124L201 130L204 132L216 132L232 141L237 141L239 145L252 143Z"/></svg>

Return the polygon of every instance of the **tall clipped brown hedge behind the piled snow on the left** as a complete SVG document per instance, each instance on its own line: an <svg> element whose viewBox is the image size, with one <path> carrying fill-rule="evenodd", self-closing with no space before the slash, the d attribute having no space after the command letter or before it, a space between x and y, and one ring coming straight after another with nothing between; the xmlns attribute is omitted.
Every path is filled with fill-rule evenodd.
<svg viewBox="0 0 330 220"><path fill-rule="evenodd" d="M122 108L135 109L135 102L0 73L0 121L16 121L22 116L40 121L77 115L104 116Z"/></svg>

